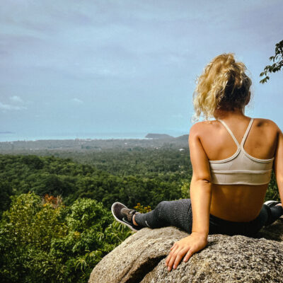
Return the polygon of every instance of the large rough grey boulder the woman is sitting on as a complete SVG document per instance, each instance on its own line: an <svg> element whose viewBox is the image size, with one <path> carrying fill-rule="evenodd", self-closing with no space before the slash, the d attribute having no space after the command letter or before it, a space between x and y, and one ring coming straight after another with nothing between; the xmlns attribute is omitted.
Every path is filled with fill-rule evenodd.
<svg viewBox="0 0 283 283"><path fill-rule="evenodd" d="M283 218L258 238L209 235L207 247L168 272L165 258L187 233L144 228L106 255L88 283L283 282Z"/></svg>

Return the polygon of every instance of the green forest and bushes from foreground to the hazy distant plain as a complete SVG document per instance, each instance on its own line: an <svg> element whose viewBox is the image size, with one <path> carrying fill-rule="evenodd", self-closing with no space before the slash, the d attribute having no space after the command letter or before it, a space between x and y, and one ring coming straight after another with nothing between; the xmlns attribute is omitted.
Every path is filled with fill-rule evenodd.
<svg viewBox="0 0 283 283"><path fill-rule="evenodd" d="M162 200L189 197L187 149L78 157L81 163L0 155L1 282L87 282L103 256L132 235L112 217L112 202L149 212ZM266 199L279 200L273 173Z"/></svg>

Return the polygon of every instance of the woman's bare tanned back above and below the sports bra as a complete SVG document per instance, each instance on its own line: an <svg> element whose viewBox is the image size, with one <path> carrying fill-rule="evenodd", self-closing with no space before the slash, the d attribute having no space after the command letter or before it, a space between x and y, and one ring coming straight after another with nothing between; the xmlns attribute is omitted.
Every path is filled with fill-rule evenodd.
<svg viewBox="0 0 283 283"><path fill-rule="evenodd" d="M239 144L246 132L250 117L226 117L222 119L229 126ZM201 144L209 160L222 160L233 156L237 145L221 122L197 123ZM243 146L255 158L270 159L275 156L278 127L271 120L256 118ZM258 216L265 198L265 185L215 185L212 184L210 213L229 221L250 221Z"/></svg>

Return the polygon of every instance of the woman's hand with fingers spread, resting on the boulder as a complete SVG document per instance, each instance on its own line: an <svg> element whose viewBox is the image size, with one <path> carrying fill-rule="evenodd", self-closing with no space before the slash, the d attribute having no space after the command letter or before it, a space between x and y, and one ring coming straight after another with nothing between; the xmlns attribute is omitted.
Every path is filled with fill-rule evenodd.
<svg viewBox="0 0 283 283"><path fill-rule="evenodd" d="M207 236L200 233L191 233L190 236L175 242L165 262L168 271L171 271L172 267L176 269L184 256L183 261L187 262L194 253L202 250L205 246L207 246Z"/></svg>

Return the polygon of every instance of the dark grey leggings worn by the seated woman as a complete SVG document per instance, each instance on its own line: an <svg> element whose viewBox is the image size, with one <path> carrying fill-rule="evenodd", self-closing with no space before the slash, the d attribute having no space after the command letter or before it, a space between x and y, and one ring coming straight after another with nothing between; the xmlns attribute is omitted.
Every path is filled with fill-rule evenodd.
<svg viewBox="0 0 283 283"><path fill-rule="evenodd" d="M233 222L209 216L209 234L255 236L262 226L272 224L283 214L281 206L262 205L260 214L249 222ZM154 210L145 214L135 214L134 220L140 226L151 229L164 226L176 226L187 233L192 232L192 206L190 199L160 202Z"/></svg>

